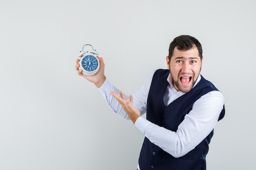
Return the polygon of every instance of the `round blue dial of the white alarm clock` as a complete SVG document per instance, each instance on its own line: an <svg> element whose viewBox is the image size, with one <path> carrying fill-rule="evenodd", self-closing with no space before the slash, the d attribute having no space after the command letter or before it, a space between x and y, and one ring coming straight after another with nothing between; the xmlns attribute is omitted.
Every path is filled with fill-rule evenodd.
<svg viewBox="0 0 256 170"><path fill-rule="evenodd" d="M94 71L99 65L96 57L94 57L93 55L85 55L81 64L83 69L85 69L86 71Z"/></svg>

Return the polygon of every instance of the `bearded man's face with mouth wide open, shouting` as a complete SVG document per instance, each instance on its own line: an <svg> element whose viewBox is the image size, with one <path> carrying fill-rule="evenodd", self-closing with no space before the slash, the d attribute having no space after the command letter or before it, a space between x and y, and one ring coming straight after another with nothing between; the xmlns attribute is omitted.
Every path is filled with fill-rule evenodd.
<svg viewBox="0 0 256 170"><path fill-rule="evenodd" d="M166 62L171 72L175 89L184 93L189 92L194 86L202 67L202 61L196 46L187 51L178 50L175 47L171 61L167 56Z"/></svg>

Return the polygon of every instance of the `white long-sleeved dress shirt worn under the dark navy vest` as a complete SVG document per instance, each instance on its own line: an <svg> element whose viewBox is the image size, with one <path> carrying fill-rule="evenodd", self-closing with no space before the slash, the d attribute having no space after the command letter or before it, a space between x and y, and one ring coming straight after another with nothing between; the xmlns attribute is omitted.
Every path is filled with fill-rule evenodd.
<svg viewBox="0 0 256 170"><path fill-rule="evenodd" d="M139 109L141 115L146 113L148 92L154 73L155 71L151 73L150 77L146 79L139 90L132 95L133 106ZM200 79L201 76L199 75L195 85L198 84ZM174 88L170 74L167 81L169 84L163 98L166 106L185 94ZM119 94L119 90L113 86L108 79L105 80L103 85L99 88L99 91L116 113L125 119L130 119L115 97L110 95L111 91L115 91ZM125 97L126 99L129 99L128 95L125 95ZM200 144L200 142L213 130L223 105L224 97L222 93L219 91L211 91L200 97L193 104L192 110L185 116L182 123L178 126L177 132L153 124L144 117L139 117L135 121L135 126L153 144L159 146L173 157L182 157Z"/></svg>

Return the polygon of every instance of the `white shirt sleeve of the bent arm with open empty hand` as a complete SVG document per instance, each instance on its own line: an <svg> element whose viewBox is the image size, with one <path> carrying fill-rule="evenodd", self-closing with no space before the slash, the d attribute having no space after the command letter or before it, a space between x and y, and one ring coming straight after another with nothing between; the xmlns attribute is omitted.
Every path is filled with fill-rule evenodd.
<svg viewBox="0 0 256 170"><path fill-rule="evenodd" d="M135 126L155 145L173 155L182 157L193 150L209 135L218 121L224 105L224 97L219 91L203 95L184 117L177 132L157 126L144 117L135 121Z"/></svg>

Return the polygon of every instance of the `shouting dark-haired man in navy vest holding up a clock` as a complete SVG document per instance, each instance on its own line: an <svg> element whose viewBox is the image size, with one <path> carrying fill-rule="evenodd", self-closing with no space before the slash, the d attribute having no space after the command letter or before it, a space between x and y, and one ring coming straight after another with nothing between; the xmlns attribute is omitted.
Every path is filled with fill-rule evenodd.
<svg viewBox="0 0 256 170"><path fill-rule="evenodd" d="M145 135L139 170L205 170L206 155L217 121L225 115L222 93L202 75L202 46L189 35L171 42L168 69L153 71L130 97L113 86L100 69L85 76L93 82L112 109L132 120ZM79 60L76 60L78 63ZM146 119L141 117L147 113Z"/></svg>

